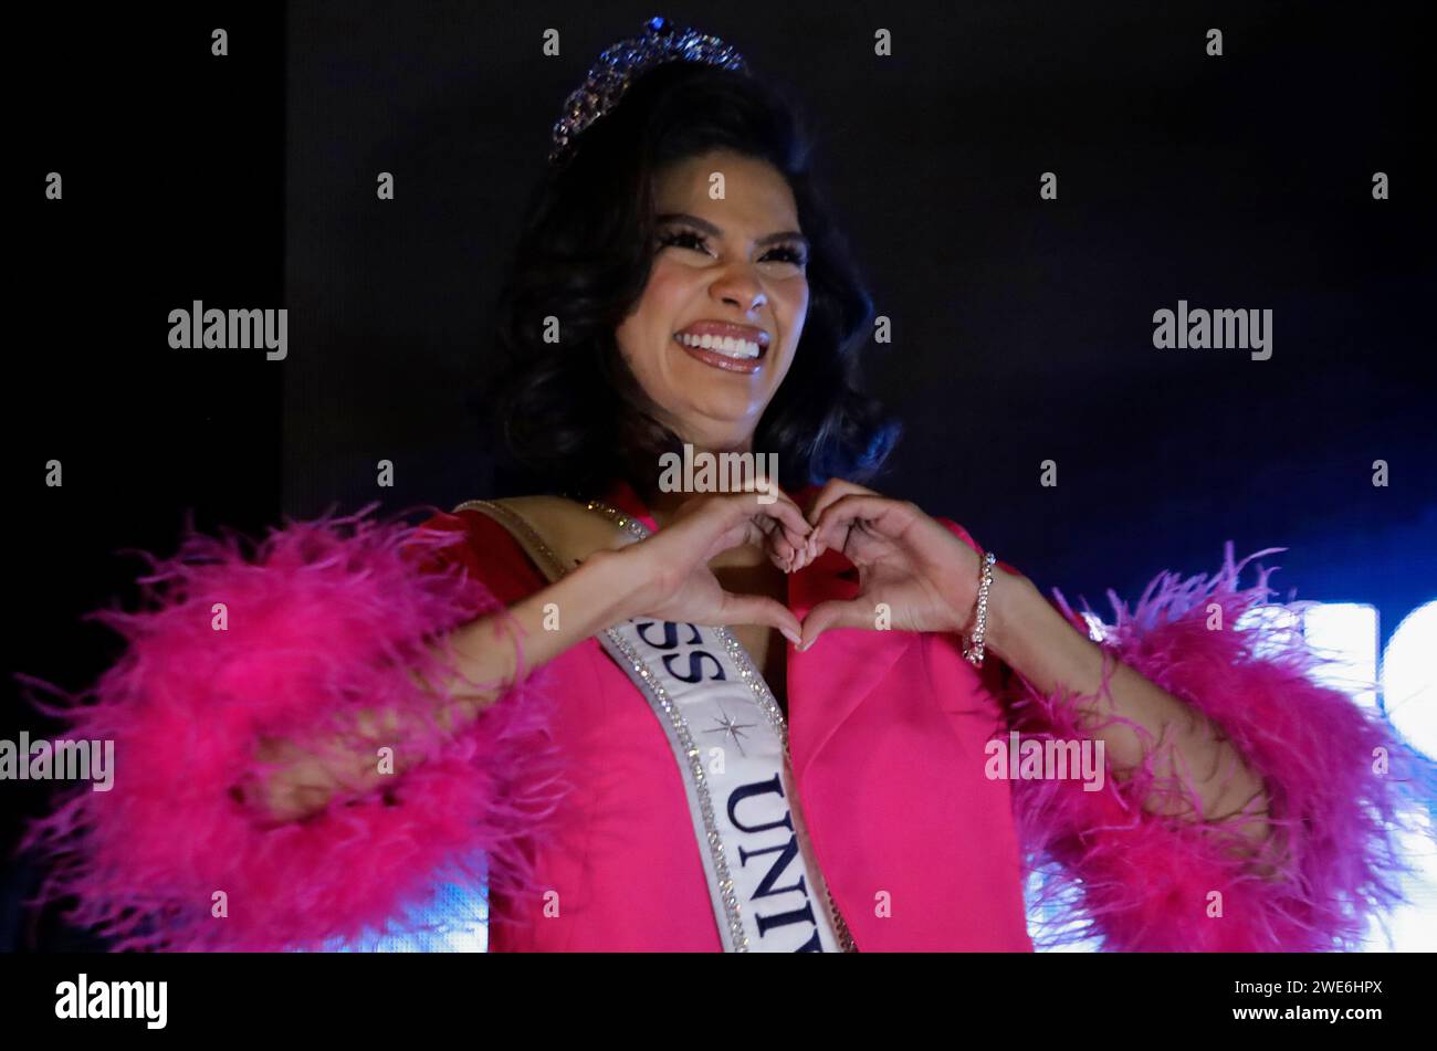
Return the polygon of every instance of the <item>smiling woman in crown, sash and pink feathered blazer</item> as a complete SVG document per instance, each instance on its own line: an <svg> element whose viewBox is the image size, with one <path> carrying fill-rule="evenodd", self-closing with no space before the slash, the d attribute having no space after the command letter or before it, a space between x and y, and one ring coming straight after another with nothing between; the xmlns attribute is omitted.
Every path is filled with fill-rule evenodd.
<svg viewBox="0 0 1437 1051"><path fill-rule="evenodd" d="M494 949L1027 950L1055 861L1108 948L1322 949L1398 899L1398 747L1237 626L1265 573L1160 579L1098 645L862 484L869 303L731 47L654 20L550 159L504 422L583 498L187 540L73 712L128 775L37 830L79 922L315 948L487 879ZM754 458L696 492L665 454Z"/></svg>

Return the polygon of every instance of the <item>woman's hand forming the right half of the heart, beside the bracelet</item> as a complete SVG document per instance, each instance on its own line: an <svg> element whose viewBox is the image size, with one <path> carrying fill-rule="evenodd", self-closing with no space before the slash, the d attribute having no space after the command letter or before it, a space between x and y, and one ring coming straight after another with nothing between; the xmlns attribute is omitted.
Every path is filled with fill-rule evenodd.
<svg viewBox="0 0 1437 1051"><path fill-rule="evenodd" d="M917 504L833 478L813 500L808 521L815 527L812 548L842 551L858 569L858 594L809 610L799 649L829 627L872 630L879 603L888 606L898 630L960 632L967 626L977 602L979 554Z"/></svg>

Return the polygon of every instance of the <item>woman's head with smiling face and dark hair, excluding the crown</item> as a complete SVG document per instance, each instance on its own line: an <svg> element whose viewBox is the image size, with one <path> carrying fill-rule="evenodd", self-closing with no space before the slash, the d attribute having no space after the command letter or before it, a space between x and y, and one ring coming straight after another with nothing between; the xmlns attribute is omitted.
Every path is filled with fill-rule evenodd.
<svg viewBox="0 0 1437 1051"><path fill-rule="evenodd" d="M872 303L795 111L698 62L634 73L622 101L536 187L500 293L510 452L559 491L604 492L615 465L647 488L698 426L776 452L786 488L871 478L900 428L862 389Z"/></svg>

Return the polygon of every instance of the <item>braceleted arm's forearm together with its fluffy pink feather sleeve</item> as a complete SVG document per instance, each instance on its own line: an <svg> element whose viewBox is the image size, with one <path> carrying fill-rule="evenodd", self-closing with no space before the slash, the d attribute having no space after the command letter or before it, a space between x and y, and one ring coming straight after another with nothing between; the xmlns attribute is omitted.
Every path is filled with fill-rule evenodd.
<svg viewBox="0 0 1437 1051"><path fill-rule="evenodd" d="M1397 833L1417 783L1400 770L1414 757L1313 681L1319 658L1299 632L1237 626L1272 594L1270 570L1239 587L1244 564L1229 551L1211 577L1163 574L1131 610L1114 599L1101 646L1061 596L1062 612L994 574L1009 593L990 599L1004 663L984 672L1012 727L1102 739L1112 768L1102 791L1013 783L1052 943L1331 950L1403 900Z"/></svg>

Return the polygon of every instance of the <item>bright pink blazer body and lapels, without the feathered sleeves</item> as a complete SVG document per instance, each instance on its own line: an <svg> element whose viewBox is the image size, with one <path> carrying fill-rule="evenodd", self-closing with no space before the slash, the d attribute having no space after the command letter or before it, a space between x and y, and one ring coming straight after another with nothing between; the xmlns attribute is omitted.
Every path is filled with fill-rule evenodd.
<svg viewBox="0 0 1437 1051"><path fill-rule="evenodd" d="M655 528L627 484L606 503ZM428 526L464 530L457 557L506 604L546 583L479 511ZM855 590L851 563L828 551L789 576L789 606L802 617ZM1009 783L983 774L1003 712L957 639L835 629L785 652L799 805L858 948L1032 950ZM647 701L596 639L546 669L573 785L536 866L558 916L496 896L491 949L720 950L683 780Z"/></svg>

